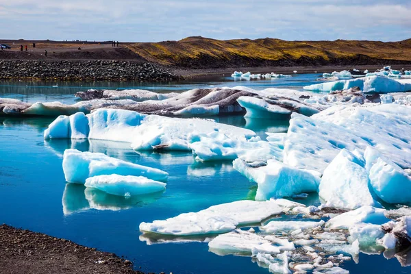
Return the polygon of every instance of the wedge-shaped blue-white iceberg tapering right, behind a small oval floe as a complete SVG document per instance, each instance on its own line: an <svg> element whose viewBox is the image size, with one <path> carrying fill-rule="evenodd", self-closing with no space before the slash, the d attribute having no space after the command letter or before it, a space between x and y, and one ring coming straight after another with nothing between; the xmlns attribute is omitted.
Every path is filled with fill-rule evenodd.
<svg viewBox="0 0 411 274"><path fill-rule="evenodd" d="M84 184L88 177L97 175L133 175L164 181L168 173L148 166L132 164L103 153L81 152L66 149L63 155L63 171L67 182Z"/></svg>

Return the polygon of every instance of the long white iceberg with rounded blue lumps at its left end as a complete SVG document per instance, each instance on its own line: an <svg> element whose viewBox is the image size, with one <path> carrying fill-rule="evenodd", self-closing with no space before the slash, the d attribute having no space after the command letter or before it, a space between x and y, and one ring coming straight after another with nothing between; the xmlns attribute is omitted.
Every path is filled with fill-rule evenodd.
<svg viewBox="0 0 411 274"><path fill-rule="evenodd" d="M177 119L146 115L129 110L99 109L87 115L87 120L73 119L66 123L60 116L49 125L45 138L77 138L69 128L86 128L89 139L130 142L137 150L168 149L190 151L192 134L220 132L233 140L248 140L256 134L249 129L224 125L205 119ZM77 125L80 123L81 125Z"/></svg>

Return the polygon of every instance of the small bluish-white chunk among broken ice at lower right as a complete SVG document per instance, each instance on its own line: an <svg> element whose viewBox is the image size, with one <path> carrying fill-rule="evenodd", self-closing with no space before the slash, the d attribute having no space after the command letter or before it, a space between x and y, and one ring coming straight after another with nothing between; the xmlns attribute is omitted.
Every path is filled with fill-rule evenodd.
<svg viewBox="0 0 411 274"><path fill-rule="evenodd" d="M369 247L375 245L375 241L382 238L385 232L381 225L358 223L349 227L349 234L350 242L358 240L361 247Z"/></svg>

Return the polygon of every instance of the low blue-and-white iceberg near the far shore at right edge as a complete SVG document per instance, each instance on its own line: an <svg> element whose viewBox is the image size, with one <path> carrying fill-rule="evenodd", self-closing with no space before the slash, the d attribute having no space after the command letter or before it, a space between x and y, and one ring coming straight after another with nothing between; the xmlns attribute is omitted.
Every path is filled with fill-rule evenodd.
<svg viewBox="0 0 411 274"><path fill-rule="evenodd" d="M411 90L411 84L380 76L362 77L351 80L339 80L335 82L313 84L311 86L304 86L304 90L347 90L356 86L365 93L406 92L408 90Z"/></svg>

